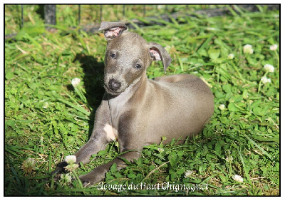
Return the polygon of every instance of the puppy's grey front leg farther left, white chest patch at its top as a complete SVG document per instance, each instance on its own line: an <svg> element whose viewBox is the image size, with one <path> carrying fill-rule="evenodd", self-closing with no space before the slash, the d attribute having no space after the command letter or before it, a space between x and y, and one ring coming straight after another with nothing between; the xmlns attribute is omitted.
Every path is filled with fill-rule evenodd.
<svg viewBox="0 0 285 201"><path fill-rule="evenodd" d="M108 127L110 128L110 125L110 110L108 107L108 100L104 100L103 98L102 103L95 113L95 123L90 139L74 154L76 156L76 164L88 163L91 155L105 149L106 145L115 139L115 134L111 132L112 130L106 129ZM51 172L51 175L62 171L66 165L68 165L66 161L61 162L58 165L58 168Z"/></svg>

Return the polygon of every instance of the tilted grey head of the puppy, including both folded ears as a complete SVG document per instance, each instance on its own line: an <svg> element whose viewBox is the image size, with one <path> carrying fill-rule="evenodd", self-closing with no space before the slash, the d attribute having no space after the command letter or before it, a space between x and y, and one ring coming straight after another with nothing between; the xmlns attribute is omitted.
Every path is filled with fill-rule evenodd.
<svg viewBox="0 0 285 201"><path fill-rule="evenodd" d="M145 75L152 61L162 61L166 71L171 62L165 48L147 43L142 36L128 31L118 22L102 22L100 29L108 40L105 51L104 87L107 93L119 95Z"/></svg>

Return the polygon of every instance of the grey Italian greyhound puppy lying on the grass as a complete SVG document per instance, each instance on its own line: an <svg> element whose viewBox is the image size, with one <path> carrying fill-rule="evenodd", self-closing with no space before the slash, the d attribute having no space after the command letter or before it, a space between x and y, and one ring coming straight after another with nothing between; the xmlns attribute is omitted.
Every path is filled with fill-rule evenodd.
<svg viewBox="0 0 285 201"><path fill-rule="evenodd" d="M105 178L113 163L118 170L124 160L140 158L142 148L152 143L169 143L172 138L185 140L202 131L214 112L214 96L197 76L182 74L148 80L147 67L162 61L166 71L171 58L157 43L147 43L142 36L128 31L119 22L102 22L108 40L105 51L102 103L95 113L93 133L88 143L73 155L76 163L86 164L90 156L118 140L121 154L109 163L79 178L84 186ZM75 156L75 157L74 157ZM63 161L52 173L63 170Z"/></svg>

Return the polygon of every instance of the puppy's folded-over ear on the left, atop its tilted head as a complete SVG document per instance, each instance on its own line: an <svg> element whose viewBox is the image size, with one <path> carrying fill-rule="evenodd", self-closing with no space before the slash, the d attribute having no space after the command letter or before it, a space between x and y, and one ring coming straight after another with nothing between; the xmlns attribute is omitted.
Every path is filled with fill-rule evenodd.
<svg viewBox="0 0 285 201"><path fill-rule="evenodd" d="M99 31L104 31L107 40L120 36L121 33L128 30L128 26L120 22L103 21Z"/></svg>

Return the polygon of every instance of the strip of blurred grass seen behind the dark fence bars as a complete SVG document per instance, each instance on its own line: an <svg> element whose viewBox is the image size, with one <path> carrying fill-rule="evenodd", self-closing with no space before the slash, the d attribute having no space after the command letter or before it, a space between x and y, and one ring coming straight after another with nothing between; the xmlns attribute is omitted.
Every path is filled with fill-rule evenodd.
<svg viewBox="0 0 285 201"><path fill-rule="evenodd" d="M215 9L222 5L145 5L145 16L157 16L171 12L193 12L202 9ZM43 25L43 4L24 5L24 26ZM102 5L102 21L135 19L144 16L142 5ZM100 22L100 5L81 5L81 25ZM56 5L58 26L78 26L78 5ZM18 33L21 25L21 5L5 6L5 34Z"/></svg>

